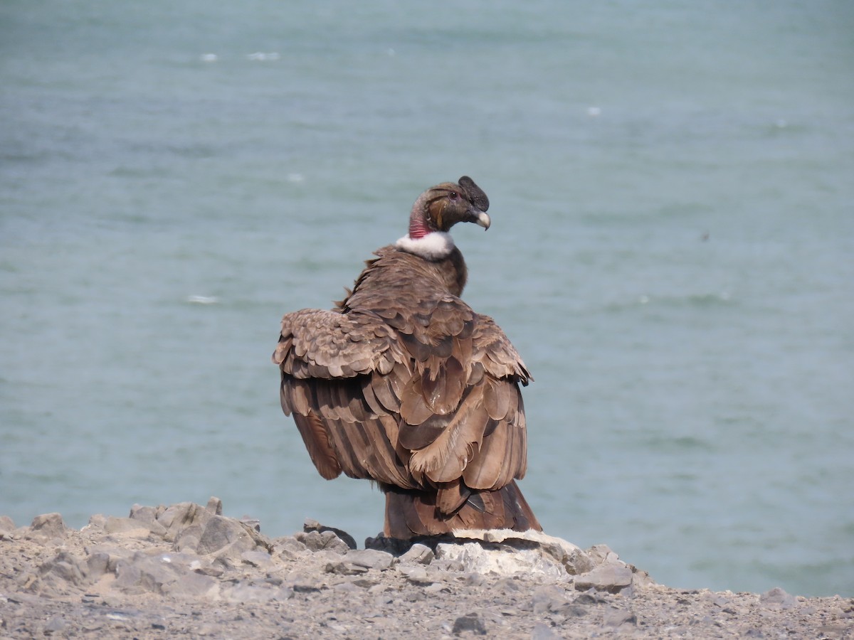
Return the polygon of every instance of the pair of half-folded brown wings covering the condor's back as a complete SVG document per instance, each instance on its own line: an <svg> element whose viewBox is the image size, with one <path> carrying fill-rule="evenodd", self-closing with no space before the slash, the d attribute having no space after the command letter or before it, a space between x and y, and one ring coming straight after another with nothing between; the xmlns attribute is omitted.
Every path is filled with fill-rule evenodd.
<svg viewBox="0 0 854 640"><path fill-rule="evenodd" d="M282 408L325 478L435 488L450 513L524 476L530 376L493 320L456 296L406 303L286 315L273 354Z"/></svg>

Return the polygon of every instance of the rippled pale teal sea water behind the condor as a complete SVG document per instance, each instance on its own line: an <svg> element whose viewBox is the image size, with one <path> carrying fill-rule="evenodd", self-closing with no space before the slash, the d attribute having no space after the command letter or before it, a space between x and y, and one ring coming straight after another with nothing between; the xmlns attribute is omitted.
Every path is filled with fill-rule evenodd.
<svg viewBox="0 0 854 640"><path fill-rule="evenodd" d="M281 414L279 318L468 174L547 532L854 595L852 33L844 0L2 3L0 513L375 534Z"/></svg>

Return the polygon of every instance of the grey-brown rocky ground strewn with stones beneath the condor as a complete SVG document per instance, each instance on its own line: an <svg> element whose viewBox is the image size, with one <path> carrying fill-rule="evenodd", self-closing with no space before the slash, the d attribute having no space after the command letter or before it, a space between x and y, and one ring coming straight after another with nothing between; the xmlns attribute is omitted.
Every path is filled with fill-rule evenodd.
<svg viewBox="0 0 854 640"><path fill-rule="evenodd" d="M0 638L854 637L854 600L680 591L605 545L529 532L415 544L307 521L283 538L207 506L77 531L0 516Z"/></svg>

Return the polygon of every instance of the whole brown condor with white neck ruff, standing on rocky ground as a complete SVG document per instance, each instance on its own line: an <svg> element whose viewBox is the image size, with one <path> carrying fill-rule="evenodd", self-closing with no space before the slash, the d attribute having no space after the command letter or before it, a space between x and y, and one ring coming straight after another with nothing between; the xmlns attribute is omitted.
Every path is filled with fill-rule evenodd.
<svg viewBox="0 0 854 640"><path fill-rule="evenodd" d="M447 233L488 229L488 207L470 177L428 189L407 236L375 252L336 308L282 319L282 409L324 478L377 482L391 538L541 528L515 482L530 375L492 318L459 299L467 271Z"/></svg>

